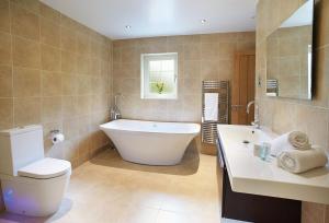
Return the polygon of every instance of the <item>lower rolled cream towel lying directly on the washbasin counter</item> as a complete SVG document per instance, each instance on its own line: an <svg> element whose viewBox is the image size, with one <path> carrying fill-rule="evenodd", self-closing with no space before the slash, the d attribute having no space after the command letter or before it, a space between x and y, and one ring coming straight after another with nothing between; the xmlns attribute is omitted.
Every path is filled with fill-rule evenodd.
<svg viewBox="0 0 329 223"><path fill-rule="evenodd" d="M326 166L327 162L326 153L319 149L282 151L277 156L277 165L294 174Z"/></svg>

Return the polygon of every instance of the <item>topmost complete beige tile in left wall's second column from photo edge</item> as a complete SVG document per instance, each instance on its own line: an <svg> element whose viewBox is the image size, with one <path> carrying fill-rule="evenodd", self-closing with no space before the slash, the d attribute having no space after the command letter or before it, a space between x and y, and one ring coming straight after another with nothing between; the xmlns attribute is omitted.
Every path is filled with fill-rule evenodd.
<svg viewBox="0 0 329 223"><path fill-rule="evenodd" d="M12 33L18 36L38 40L39 17L16 4L11 5Z"/></svg>

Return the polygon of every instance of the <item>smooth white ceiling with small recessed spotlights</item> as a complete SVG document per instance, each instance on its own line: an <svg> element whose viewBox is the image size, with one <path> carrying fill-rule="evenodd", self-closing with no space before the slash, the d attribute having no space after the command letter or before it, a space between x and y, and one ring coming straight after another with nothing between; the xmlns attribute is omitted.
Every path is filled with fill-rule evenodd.
<svg viewBox="0 0 329 223"><path fill-rule="evenodd" d="M42 0L112 38L253 31L256 0ZM205 24L201 20L206 20ZM131 25L132 28L125 28Z"/></svg>

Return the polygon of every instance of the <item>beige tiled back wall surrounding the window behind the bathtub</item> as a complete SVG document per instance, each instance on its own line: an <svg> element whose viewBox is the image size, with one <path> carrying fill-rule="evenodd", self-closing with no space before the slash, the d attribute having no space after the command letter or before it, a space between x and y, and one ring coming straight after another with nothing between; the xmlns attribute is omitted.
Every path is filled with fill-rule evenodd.
<svg viewBox="0 0 329 223"><path fill-rule="evenodd" d="M254 50L254 33L226 33L115 40L113 92L123 117L201 121L202 80L231 80L234 54ZM140 99L140 54L178 52L178 99Z"/></svg>

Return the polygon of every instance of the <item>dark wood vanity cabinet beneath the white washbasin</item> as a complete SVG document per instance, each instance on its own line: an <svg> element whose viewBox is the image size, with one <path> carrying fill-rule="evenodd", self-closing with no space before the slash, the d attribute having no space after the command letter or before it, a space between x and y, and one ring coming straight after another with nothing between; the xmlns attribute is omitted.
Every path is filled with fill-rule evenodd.
<svg viewBox="0 0 329 223"><path fill-rule="evenodd" d="M254 223L300 222L300 201L232 191L220 142L217 143L217 150L222 218Z"/></svg>

